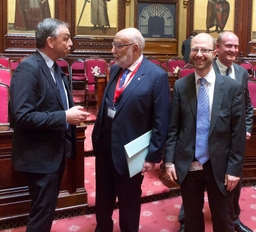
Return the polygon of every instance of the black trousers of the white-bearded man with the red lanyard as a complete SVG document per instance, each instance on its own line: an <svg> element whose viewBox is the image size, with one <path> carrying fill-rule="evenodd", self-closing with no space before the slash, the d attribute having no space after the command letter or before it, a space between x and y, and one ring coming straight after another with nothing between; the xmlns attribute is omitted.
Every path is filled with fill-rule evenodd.
<svg viewBox="0 0 256 232"><path fill-rule="evenodd" d="M106 137L105 137L106 138ZM121 232L138 232L143 176L119 174L112 162L110 143L104 141L96 154L96 232L112 232L116 197Z"/></svg>

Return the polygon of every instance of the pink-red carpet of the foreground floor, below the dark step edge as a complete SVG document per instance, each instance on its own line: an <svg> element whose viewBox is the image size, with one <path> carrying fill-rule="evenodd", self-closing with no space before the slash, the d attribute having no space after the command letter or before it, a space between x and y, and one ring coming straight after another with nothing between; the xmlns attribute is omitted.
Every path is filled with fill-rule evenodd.
<svg viewBox="0 0 256 232"><path fill-rule="evenodd" d="M206 232L212 232L210 212L205 197ZM240 215L244 224L256 231L256 189L253 187L242 188L241 194L242 213ZM181 197L169 198L151 203L144 203L141 207L140 232L176 232L179 229L177 221ZM118 210L114 211L114 232L118 232ZM95 215L84 215L73 218L61 219L53 222L51 232L93 232L96 221ZM3 230L2 232L25 232L25 227Z"/></svg>

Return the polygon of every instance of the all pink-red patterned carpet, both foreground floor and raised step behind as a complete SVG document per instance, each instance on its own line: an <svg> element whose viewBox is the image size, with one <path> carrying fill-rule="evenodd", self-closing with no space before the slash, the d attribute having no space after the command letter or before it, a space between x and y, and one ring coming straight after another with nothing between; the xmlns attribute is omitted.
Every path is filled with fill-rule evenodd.
<svg viewBox="0 0 256 232"><path fill-rule="evenodd" d="M96 113L91 111L88 126L85 131L85 189L88 192L88 207L82 216L55 220L51 232L93 232L95 230L95 157L91 156L91 131ZM140 232L176 232L179 229L178 214L181 206L179 190L169 189L159 180L160 164L152 172L146 173L142 184L142 206L140 217ZM241 221L256 232L256 188L243 187L240 197ZM205 194L205 225L206 232L212 232L211 214ZM118 232L118 204L113 213L114 231ZM1 230L0 232L25 232L25 226Z"/></svg>

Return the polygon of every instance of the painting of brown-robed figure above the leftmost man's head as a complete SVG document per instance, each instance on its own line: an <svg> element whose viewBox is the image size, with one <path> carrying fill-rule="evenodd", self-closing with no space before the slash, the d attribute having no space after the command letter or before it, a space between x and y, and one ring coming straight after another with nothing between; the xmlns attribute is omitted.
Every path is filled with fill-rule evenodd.
<svg viewBox="0 0 256 232"><path fill-rule="evenodd" d="M45 18L54 18L54 0L8 0L8 33L34 33Z"/></svg>

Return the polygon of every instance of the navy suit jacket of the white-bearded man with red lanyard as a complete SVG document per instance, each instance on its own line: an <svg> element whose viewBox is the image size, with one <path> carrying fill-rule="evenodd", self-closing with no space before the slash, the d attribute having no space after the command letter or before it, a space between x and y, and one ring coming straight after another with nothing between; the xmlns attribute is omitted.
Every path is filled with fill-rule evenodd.
<svg viewBox="0 0 256 232"><path fill-rule="evenodd" d="M103 130L106 93L119 77L121 68L113 65L98 117L92 133L94 153L97 156ZM146 160L160 162L169 122L170 89L168 76L160 67L143 58L143 61L122 93L115 118L112 121L111 148L115 168L128 173L124 145L152 129Z"/></svg>

